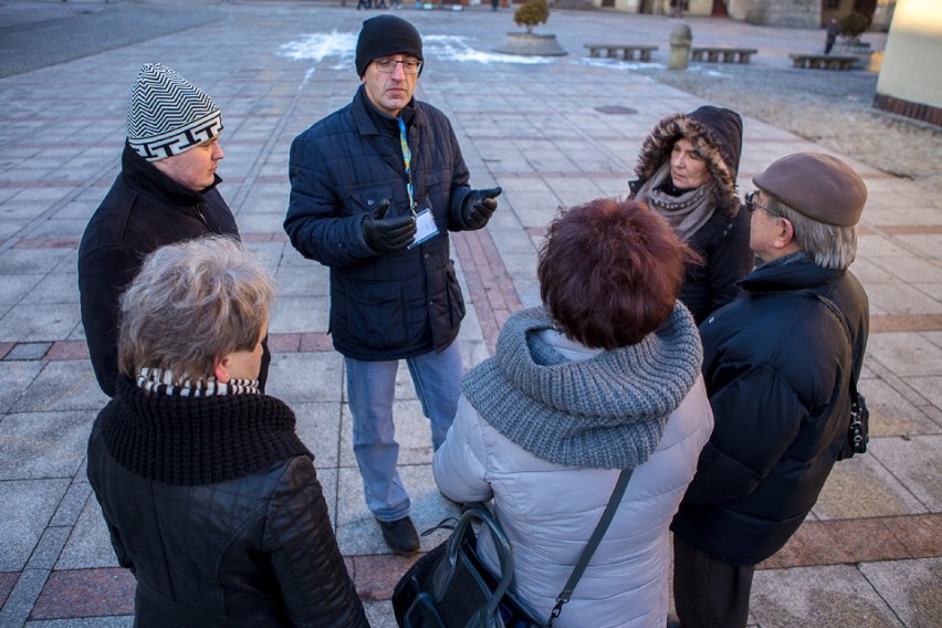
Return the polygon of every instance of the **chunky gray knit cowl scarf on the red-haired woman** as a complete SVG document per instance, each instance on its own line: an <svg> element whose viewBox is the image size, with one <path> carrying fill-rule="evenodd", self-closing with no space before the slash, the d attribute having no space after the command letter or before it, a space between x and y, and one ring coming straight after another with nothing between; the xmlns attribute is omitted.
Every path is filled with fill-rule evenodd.
<svg viewBox="0 0 942 628"><path fill-rule="evenodd" d="M693 317L679 302L636 345L571 362L537 332L554 328L544 307L511 316L496 355L464 376L478 414L540 459L593 469L634 469L658 448L687 397L703 352Z"/></svg>

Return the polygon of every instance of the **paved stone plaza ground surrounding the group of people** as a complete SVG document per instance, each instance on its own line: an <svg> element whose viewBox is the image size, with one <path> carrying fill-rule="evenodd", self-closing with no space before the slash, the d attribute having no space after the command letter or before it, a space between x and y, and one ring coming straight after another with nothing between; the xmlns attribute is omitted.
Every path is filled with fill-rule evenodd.
<svg viewBox="0 0 942 628"><path fill-rule="evenodd" d="M346 104L357 85L352 40L366 13L354 7L0 4L4 44L31 42L28 53L8 57L20 65L0 78L0 626L132 625L134 580L116 566L85 480L88 429L106 398L87 363L75 255L118 171L130 85L155 61L222 108L220 190L281 292L269 393L295 409L317 456L341 550L373 624L394 626L387 600L411 561L388 553L363 503L343 360L326 336L326 271L303 260L281 229L291 140ZM470 305L461 334L470 367L493 350L510 313L538 301L536 247L556 208L624 196L653 123L704 102L631 72L630 63L585 56L589 41L641 41L660 45L653 61L663 64L677 24L667 18L554 11L537 32L555 33L569 54L532 63L492 53L516 30L509 10L399 14L426 40L417 96L452 119L471 184L504 188L485 231L453 238ZM752 63L768 72L794 72L787 52L824 39L817 30L689 23L700 43L758 48ZM132 27L137 39L126 36ZM744 190L783 155L828 151L744 122ZM860 385L872 411L871 451L837 465L795 538L762 565L751 624L934 626L942 614L942 200L854 155L840 157L870 190L852 270L871 300ZM422 530L454 506L432 481L428 427L405 371L400 462ZM425 537L422 546L441 538Z"/></svg>

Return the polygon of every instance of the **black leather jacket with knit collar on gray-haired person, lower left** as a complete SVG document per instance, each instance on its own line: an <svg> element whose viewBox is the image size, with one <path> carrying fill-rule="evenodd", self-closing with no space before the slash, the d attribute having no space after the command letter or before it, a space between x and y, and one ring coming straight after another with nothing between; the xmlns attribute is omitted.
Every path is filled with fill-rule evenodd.
<svg viewBox="0 0 942 628"><path fill-rule="evenodd" d="M136 625L368 626L294 422L273 397L118 380L88 440L88 481L137 577Z"/></svg>

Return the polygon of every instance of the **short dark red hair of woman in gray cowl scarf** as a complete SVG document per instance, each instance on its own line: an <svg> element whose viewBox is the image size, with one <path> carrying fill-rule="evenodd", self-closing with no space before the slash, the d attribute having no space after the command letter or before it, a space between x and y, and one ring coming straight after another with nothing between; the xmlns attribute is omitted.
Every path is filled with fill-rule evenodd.
<svg viewBox="0 0 942 628"><path fill-rule="evenodd" d="M562 210L540 248L540 296L572 339L634 345L671 315L690 250L645 203L596 199Z"/></svg>

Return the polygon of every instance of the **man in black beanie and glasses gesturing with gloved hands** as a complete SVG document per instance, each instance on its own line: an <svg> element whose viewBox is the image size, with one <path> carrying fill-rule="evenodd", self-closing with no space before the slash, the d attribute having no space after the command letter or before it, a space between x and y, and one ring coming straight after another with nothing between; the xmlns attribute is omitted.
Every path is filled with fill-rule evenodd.
<svg viewBox="0 0 942 628"><path fill-rule="evenodd" d="M393 404L399 360L412 376L435 449L454 418L464 302L449 231L481 229L500 188L474 190L451 123L412 97L422 40L395 15L363 23L353 101L291 146L284 230L331 269L329 333L344 356L353 447L366 503L397 554L419 550L397 471Z"/></svg>

